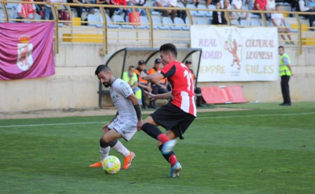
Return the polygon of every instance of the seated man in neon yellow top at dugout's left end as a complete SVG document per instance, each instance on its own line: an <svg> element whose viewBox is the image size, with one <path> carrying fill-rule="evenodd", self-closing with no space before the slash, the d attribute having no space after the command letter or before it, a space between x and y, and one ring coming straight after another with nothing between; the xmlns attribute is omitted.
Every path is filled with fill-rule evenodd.
<svg viewBox="0 0 315 194"><path fill-rule="evenodd" d="M138 78L135 73L135 66L129 66L128 71L123 72L123 80L126 81L138 98L140 105L142 105L141 89L138 87Z"/></svg>

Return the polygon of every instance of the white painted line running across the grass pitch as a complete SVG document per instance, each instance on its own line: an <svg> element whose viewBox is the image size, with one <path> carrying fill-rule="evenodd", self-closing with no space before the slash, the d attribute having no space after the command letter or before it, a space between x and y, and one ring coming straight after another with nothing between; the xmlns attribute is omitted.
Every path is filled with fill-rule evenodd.
<svg viewBox="0 0 315 194"><path fill-rule="evenodd" d="M252 115L235 115L235 116L218 116L218 117L197 117L196 119L222 119L222 118L235 118L235 117L264 117L264 116L289 116L289 115L303 115L315 114L315 112L308 113L289 113L289 114L252 114ZM79 124L99 124L107 123L109 121L100 122L78 122L78 123L50 123L50 124L32 124L32 125L0 125L0 128L6 127L36 127L36 126L54 126L54 125L79 125Z"/></svg>

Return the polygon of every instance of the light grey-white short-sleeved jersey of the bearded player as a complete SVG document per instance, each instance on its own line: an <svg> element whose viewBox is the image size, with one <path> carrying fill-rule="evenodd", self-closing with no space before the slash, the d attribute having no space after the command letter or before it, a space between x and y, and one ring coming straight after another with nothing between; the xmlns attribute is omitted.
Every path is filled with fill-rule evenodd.
<svg viewBox="0 0 315 194"><path fill-rule="evenodd" d="M131 94L134 92L132 91L129 84L119 78L116 78L111 86L110 94L112 98L112 102L114 103L115 107L118 111L117 119L119 122L128 123L131 125L136 125L138 122L137 114L135 108L131 101L127 99ZM117 120L115 119L115 120ZM114 120L114 122L115 122Z"/></svg>

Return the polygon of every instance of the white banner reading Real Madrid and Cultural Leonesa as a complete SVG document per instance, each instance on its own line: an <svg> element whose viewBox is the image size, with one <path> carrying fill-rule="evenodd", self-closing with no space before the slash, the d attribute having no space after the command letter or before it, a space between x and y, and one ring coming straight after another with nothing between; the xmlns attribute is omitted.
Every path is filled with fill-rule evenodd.
<svg viewBox="0 0 315 194"><path fill-rule="evenodd" d="M198 82L278 80L277 28L192 25L190 36L202 48Z"/></svg>

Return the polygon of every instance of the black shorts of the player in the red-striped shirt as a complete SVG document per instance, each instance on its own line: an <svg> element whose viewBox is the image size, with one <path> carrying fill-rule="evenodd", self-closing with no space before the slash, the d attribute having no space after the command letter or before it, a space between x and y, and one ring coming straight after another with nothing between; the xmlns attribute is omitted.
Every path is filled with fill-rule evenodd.
<svg viewBox="0 0 315 194"><path fill-rule="evenodd" d="M184 139L182 135L196 118L195 116L184 112L172 103L167 103L166 105L158 108L150 116L156 124L161 125L166 130L172 130L176 137L179 137L180 139Z"/></svg>

